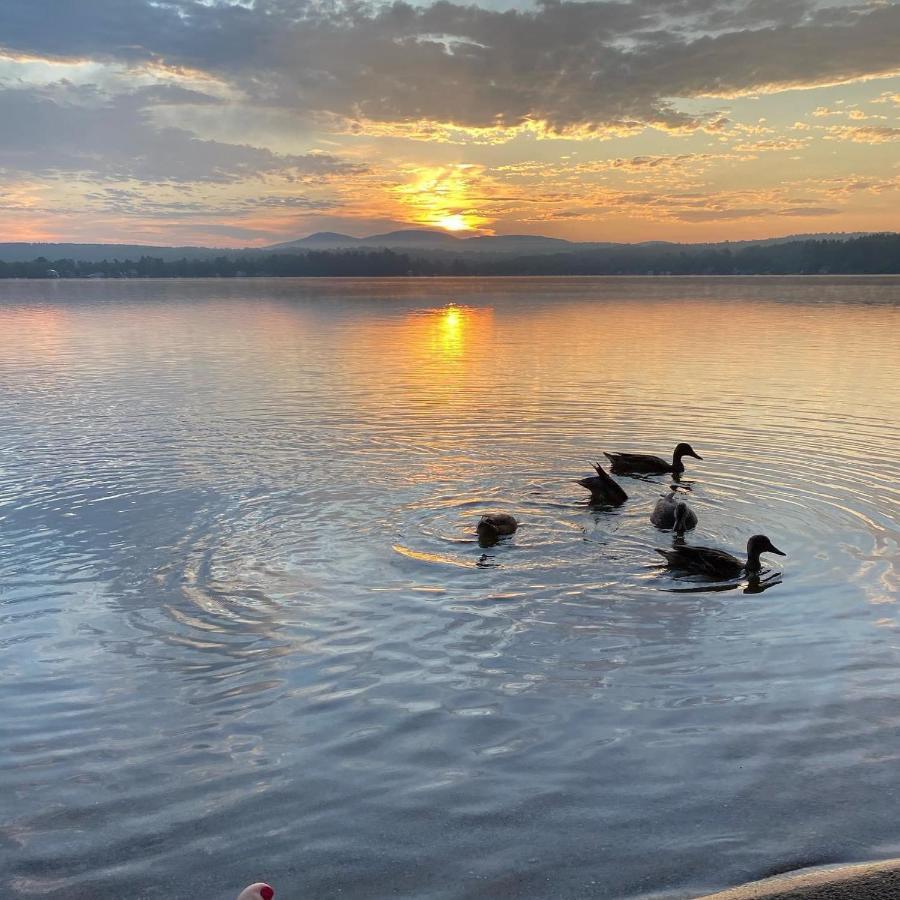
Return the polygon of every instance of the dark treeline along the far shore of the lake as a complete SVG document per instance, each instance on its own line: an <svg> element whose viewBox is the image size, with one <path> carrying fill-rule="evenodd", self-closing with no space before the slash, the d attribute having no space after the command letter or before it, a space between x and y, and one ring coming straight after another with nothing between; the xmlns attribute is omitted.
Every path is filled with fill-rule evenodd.
<svg viewBox="0 0 900 900"><path fill-rule="evenodd" d="M900 274L900 235L730 248L624 245L530 256L448 257L392 250L315 250L208 259L0 262L0 278L240 278L401 275L888 275Z"/></svg>

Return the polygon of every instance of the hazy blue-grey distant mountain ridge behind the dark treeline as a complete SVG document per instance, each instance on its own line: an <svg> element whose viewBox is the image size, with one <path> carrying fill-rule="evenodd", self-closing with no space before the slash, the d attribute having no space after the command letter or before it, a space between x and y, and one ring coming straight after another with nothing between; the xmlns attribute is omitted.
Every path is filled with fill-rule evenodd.
<svg viewBox="0 0 900 900"><path fill-rule="evenodd" d="M785 237L762 238L752 241L720 241L715 243L685 244L669 241L643 241L640 243L617 242L576 242L564 238L546 237L540 234L476 235L463 237L445 231L429 229L404 229L367 237L353 237L331 231L319 231L307 237L268 247L196 247L196 246L156 246L150 244L68 244L68 243L0 243L0 262L24 262L38 257L47 259L73 259L80 262L102 262L113 259L140 259L152 256L167 262L180 259L211 259L215 257L239 258L260 253L304 253L321 250L396 250L404 253L425 253L447 256L494 255L521 256L523 254L544 255L559 253L583 253L585 251L658 247L668 249L684 248L685 252L696 252L704 248L762 247L773 244L806 240L849 241L873 232L839 232L823 234L788 235Z"/></svg>

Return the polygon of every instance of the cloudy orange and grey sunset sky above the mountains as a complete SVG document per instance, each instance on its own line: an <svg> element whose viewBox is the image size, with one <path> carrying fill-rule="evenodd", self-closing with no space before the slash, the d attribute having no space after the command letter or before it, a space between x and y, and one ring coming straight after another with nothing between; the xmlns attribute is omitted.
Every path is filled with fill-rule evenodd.
<svg viewBox="0 0 900 900"><path fill-rule="evenodd" d="M0 240L900 230L900 2L2 0Z"/></svg>

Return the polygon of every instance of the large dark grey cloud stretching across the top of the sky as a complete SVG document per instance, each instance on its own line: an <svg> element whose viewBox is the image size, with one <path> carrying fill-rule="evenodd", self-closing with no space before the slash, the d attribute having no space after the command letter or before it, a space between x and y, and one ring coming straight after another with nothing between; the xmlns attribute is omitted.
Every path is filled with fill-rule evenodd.
<svg viewBox="0 0 900 900"><path fill-rule="evenodd" d="M48 28L47 22L53 27ZM671 98L842 81L900 68L900 4L544 0L496 12L257 0L3 0L12 52L164 62L251 101L380 122L553 129L700 121Z"/></svg>

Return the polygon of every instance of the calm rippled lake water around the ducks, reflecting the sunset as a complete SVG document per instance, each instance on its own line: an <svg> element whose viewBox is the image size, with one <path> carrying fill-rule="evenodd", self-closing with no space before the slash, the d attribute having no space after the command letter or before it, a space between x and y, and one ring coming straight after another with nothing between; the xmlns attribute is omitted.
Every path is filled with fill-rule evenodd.
<svg viewBox="0 0 900 900"><path fill-rule="evenodd" d="M0 282L0 895L900 855L898 393L897 279ZM764 590L573 483L679 440Z"/></svg>

